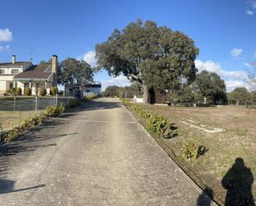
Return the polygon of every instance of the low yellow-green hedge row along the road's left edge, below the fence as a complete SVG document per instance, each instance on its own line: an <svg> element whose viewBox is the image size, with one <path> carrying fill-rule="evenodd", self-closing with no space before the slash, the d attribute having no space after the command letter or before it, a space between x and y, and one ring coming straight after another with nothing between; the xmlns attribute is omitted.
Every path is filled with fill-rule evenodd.
<svg viewBox="0 0 256 206"><path fill-rule="evenodd" d="M19 137L20 132L24 132L33 127L42 125L45 122L46 117L57 117L60 113L65 112L65 106L60 105L60 107L50 106L46 108L45 113L41 113L38 116L31 117L29 119L24 119L18 127L14 127L10 131L0 133L0 141L8 142Z"/></svg>

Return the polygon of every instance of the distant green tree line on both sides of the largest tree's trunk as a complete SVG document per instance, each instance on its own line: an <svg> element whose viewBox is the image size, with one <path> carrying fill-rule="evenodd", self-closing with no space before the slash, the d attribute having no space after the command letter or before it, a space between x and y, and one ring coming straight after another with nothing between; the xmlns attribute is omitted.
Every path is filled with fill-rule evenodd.
<svg viewBox="0 0 256 206"><path fill-rule="evenodd" d="M105 97L133 98L142 97L142 84L133 83L130 86L109 86L105 89ZM218 74L202 71L196 74L195 81L190 85L183 85L176 92L168 92L167 100L171 103L208 103L208 104L256 104L256 91L249 92L244 87L238 87L232 92L226 92L225 81Z"/></svg>

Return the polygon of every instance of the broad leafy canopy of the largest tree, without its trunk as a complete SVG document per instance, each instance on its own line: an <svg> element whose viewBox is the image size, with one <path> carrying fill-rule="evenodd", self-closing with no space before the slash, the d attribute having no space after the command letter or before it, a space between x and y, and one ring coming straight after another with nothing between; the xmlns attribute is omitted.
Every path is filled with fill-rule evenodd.
<svg viewBox="0 0 256 206"><path fill-rule="evenodd" d="M124 74L147 89L173 90L191 84L198 53L194 41L180 31L140 20L122 31L115 29L108 41L96 46L99 69L114 76Z"/></svg>

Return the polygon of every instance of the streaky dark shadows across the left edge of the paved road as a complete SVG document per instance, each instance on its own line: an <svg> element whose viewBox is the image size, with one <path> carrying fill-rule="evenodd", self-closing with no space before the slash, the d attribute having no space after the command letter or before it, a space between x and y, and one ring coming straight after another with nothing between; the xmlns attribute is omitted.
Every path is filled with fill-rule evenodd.
<svg viewBox="0 0 256 206"><path fill-rule="evenodd" d="M45 184L14 189L15 180L8 180L8 170L10 170L10 158L24 152L33 152L48 146L57 146L53 139L74 136L74 133L51 133L52 127L60 124L55 121L48 121L42 127L36 127L33 131L22 134L21 137L7 144L0 142L0 195L12 192L19 192L27 189L36 189L45 186ZM62 124L62 122L61 122ZM47 133L45 133L48 131Z"/></svg>

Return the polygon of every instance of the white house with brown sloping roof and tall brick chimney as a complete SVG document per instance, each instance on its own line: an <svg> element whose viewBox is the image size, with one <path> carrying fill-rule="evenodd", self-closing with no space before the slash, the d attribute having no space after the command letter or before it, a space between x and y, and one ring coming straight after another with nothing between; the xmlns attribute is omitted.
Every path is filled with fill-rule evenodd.
<svg viewBox="0 0 256 206"><path fill-rule="evenodd" d="M16 61L0 63L0 94L7 93L12 88L20 87L22 93L29 87L32 95L39 92L41 86L50 93L52 86L57 85L58 57L52 55L51 65L33 65L31 61Z"/></svg>

